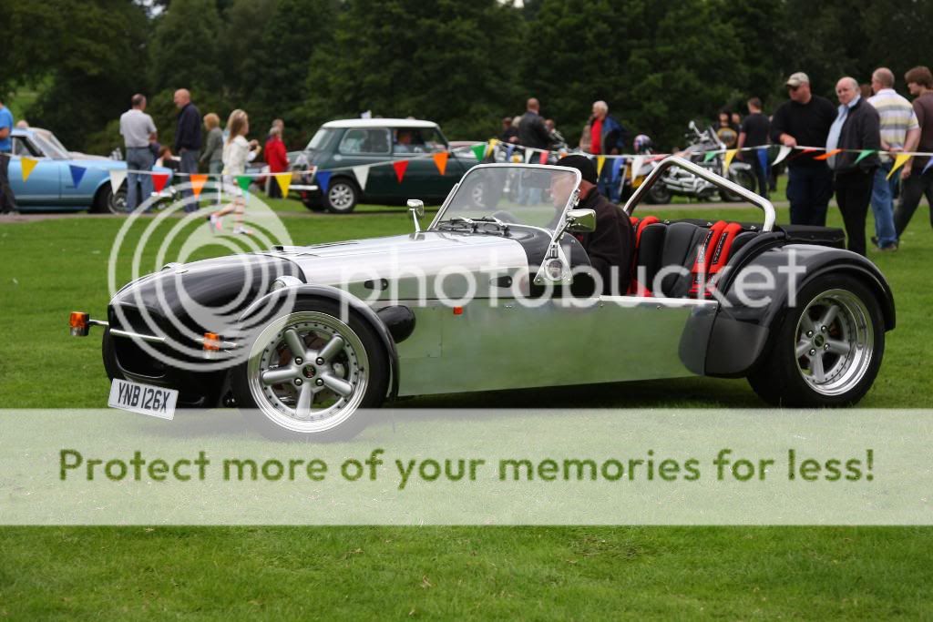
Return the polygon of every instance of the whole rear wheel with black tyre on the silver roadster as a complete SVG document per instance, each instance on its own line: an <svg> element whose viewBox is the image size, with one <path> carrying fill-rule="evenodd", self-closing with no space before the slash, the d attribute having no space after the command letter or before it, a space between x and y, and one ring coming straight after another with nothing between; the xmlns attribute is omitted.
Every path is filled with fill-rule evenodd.
<svg viewBox="0 0 933 622"><path fill-rule="evenodd" d="M805 283L797 303L774 325L749 384L761 399L778 407L855 405L868 393L884 357L884 321L877 298L855 277L827 275ZM824 330L818 320L829 317L832 306L838 309ZM835 352L839 344L848 345L848 351ZM821 374L825 381L820 381Z"/></svg>

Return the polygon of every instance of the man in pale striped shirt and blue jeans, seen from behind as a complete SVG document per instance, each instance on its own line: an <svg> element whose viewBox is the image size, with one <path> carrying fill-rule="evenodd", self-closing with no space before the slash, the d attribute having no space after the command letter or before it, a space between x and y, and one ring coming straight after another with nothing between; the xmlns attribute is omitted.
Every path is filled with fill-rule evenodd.
<svg viewBox="0 0 933 622"><path fill-rule="evenodd" d="M894 90L894 73L887 67L879 67L871 74L871 90L875 94L869 98L869 103L881 117L881 148L895 153L903 151L908 139L920 134L913 106ZM893 165L889 156L882 156L871 188L871 211L875 217L875 237L871 242L882 251L898 249L898 233L894 227L894 187L898 178L887 179Z"/></svg>

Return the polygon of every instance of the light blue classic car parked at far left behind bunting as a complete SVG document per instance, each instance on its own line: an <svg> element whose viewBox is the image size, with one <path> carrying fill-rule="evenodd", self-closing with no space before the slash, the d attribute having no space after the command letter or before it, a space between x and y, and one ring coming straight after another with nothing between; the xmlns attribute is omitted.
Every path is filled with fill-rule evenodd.
<svg viewBox="0 0 933 622"><path fill-rule="evenodd" d="M116 193L110 187L110 171L126 171L125 161L68 151L55 134L40 128L17 128L10 137L13 157L9 162L9 182L21 212L126 213L126 182ZM26 181L22 179L23 157L38 160ZM156 170L168 173L171 179L172 172L168 169Z"/></svg>

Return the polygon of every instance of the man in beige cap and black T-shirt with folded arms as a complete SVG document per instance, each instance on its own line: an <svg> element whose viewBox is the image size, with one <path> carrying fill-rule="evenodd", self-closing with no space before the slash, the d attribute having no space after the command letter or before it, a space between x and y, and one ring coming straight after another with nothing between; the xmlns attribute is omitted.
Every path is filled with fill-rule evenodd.
<svg viewBox="0 0 933 622"><path fill-rule="evenodd" d="M823 153L829 127L836 119L836 106L810 90L810 77L797 72L787 78L790 101L778 106L771 121L774 143L789 147L817 147L820 151L787 159L787 200L792 225L826 226L826 211L832 198L832 172Z"/></svg>

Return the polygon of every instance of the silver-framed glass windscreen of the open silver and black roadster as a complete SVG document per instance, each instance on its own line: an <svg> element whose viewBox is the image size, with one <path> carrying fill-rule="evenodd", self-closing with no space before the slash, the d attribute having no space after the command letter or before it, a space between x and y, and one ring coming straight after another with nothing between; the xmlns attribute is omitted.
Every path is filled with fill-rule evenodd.
<svg viewBox="0 0 933 622"><path fill-rule="evenodd" d="M554 228L579 173L546 166L480 166L466 173L439 224L457 219L498 219L505 223Z"/></svg>

